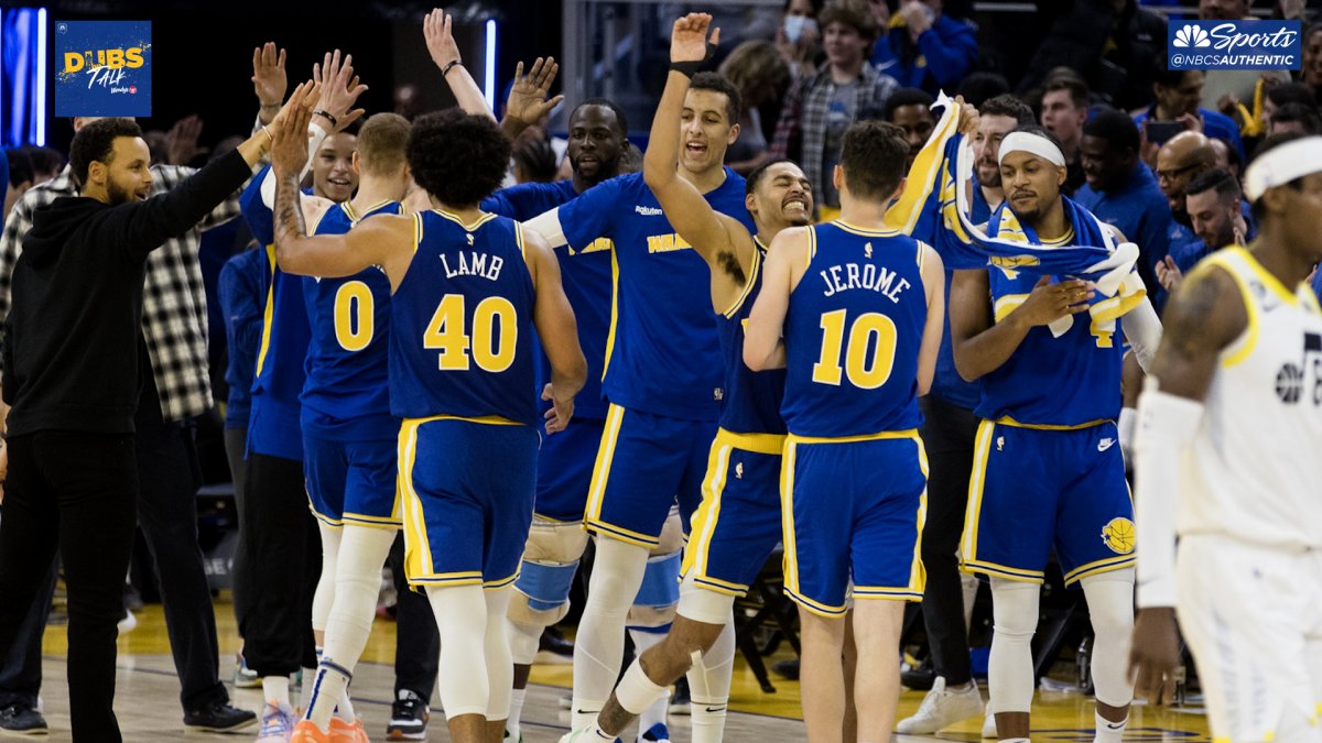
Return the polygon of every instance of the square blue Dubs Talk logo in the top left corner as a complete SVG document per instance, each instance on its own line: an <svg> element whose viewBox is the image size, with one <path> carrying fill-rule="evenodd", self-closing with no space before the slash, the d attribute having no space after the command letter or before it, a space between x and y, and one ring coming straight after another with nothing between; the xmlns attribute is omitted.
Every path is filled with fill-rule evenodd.
<svg viewBox="0 0 1322 743"><path fill-rule="evenodd" d="M57 116L151 116L151 21L59 21Z"/></svg>

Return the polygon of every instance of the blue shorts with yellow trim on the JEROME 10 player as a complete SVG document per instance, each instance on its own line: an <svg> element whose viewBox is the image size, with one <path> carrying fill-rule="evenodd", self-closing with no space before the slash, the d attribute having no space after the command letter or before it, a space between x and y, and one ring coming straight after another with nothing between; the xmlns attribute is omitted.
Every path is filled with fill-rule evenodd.
<svg viewBox="0 0 1322 743"><path fill-rule="evenodd" d="M845 616L850 595L921 600L927 455L917 431L845 439L791 434L784 456L789 598L828 617Z"/></svg>

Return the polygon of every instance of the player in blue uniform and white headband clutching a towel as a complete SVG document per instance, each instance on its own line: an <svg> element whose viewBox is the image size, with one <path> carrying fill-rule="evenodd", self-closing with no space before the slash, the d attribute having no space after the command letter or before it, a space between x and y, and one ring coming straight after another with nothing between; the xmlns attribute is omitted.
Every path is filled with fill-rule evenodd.
<svg viewBox="0 0 1322 743"><path fill-rule="evenodd" d="M1066 250L1105 243L1112 227L1060 194L1066 161L1044 130L1011 132L998 161L1006 201L990 229ZM1124 665L1133 504L1116 430L1124 342L1114 337L1121 328L1089 313L1092 295L1081 280L1003 268L957 271L952 282L954 364L965 379L982 381L961 558L964 570L992 580L989 711L1001 740L1029 738L1030 641L1052 547L1066 584L1080 583L1088 600L1099 743L1118 743L1133 697ZM1122 320L1146 365L1159 334L1151 305L1144 299Z"/></svg>

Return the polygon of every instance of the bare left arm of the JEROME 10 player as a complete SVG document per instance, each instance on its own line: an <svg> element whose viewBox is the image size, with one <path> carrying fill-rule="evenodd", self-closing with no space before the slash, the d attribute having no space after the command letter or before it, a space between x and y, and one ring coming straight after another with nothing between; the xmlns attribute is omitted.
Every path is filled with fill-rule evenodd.
<svg viewBox="0 0 1322 743"><path fill-rule="evenodd" d="M795 266L805 266L806 256L808 231L804 227L781 230L771 241L763 266L761 291L744 328L744 365L754 372L785 366L784 329L789 292L801 278L801 274L795 276Z"/></svg>

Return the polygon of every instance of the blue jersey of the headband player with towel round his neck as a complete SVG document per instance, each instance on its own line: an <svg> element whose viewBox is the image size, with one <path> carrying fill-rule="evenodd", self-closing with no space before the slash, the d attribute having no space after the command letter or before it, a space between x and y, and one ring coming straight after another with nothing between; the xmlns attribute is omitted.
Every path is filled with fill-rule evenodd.
<svg viewBox="0 0 1322 743"><path fill-rule="evenodd" d="M1069 245L1073 235L1062 238ZM1051 243L1048 243L1051 245ZM1023 304L1040 276L988 268L994 321ZM1055 280L1055 279L1054 279ZM1059 338L1047 327L1029 331L999 369L982 378L982 402L976 412L988 420L1010 418L1031 426L1081 426L1120 415L1120 372L1124 344L1120 320L1114 332L1075 315Z"/></svg>

